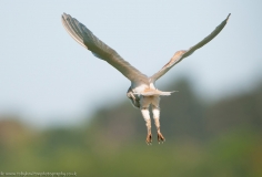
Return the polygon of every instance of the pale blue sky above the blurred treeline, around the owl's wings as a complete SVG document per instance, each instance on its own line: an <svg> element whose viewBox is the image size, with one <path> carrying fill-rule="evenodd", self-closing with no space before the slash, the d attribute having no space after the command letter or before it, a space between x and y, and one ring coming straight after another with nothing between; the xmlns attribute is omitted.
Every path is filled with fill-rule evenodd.
<svg viewBox="0 0 262 177"><path fill-rule="evenodd" d="M249 91L262 79L261 7L260 0L1 0L0 115L19 114L38 126L70 124L125 98L130 82L66 32L63 12L147 75L231 13L213 41L157 86L187 75L203 97Z"/></svg>

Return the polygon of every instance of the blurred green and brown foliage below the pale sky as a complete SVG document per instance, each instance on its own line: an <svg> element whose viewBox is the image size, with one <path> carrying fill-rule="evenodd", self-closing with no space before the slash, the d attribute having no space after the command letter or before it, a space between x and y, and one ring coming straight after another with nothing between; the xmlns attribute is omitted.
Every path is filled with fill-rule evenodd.
<svg viewBox="0 0 262 177"><path fill-rule="evenodd" d="M170 88L179 92L162 97L161 129L167 142L161 145L153 124L153 145L144 143L144 121L128 101L101 107L78 127L37 131L1 117L0 171L262 176L262 85L209 103L198 97L187 80Z"/></svg>

